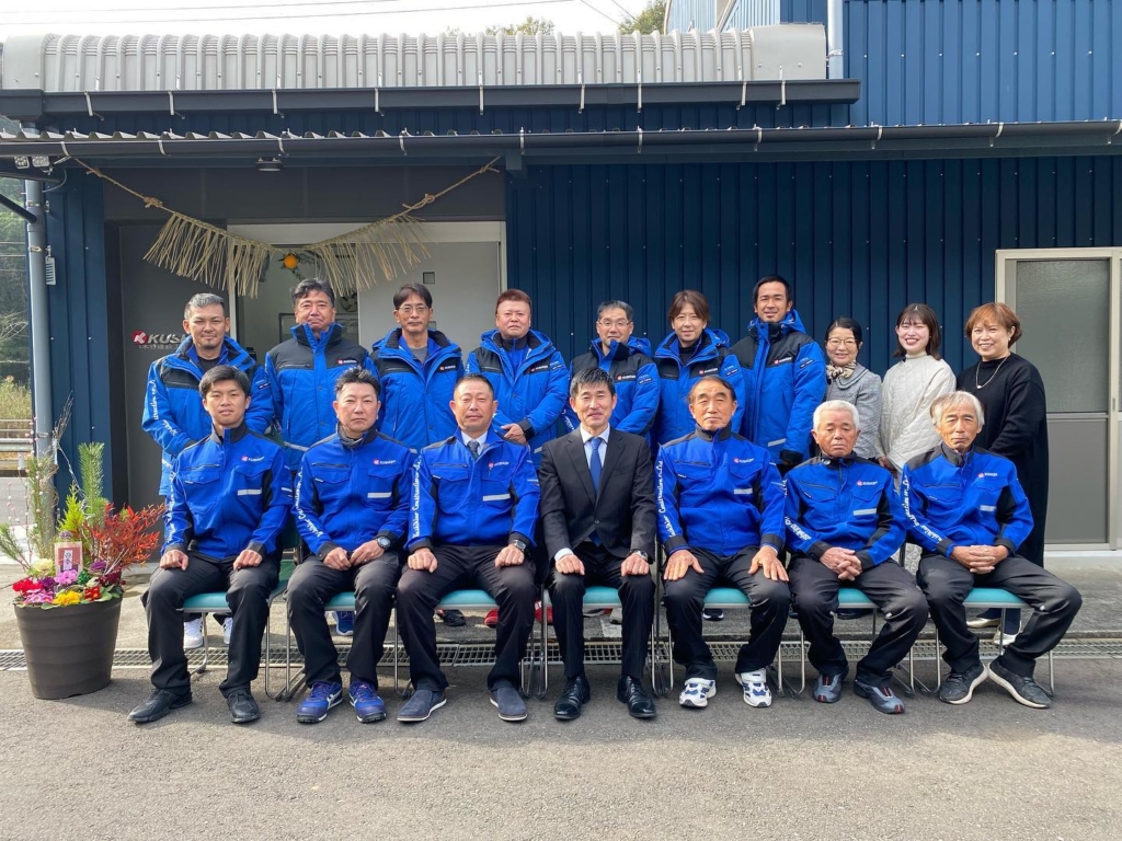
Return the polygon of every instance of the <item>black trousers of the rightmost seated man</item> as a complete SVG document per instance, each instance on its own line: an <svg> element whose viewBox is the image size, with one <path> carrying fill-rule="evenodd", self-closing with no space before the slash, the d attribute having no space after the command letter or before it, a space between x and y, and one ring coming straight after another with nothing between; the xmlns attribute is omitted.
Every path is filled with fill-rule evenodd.
<svg viewBox="0 0 1122 841"><path fill-rule="evenodd" d="M1083 606L1078 590L1018 555L1010 555L984 575L975 575L949 557L923 555L917 579L946 646L942 659L953 672L965 672L980 663L978 638L966 627L963 607L975 586L1002 588L1032 606L1029 623L1000 657L1003 666L1027 677L1032 676L1037 658L1064 638Z"/></svg>

